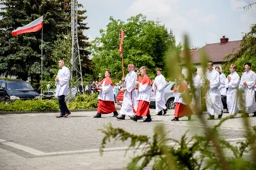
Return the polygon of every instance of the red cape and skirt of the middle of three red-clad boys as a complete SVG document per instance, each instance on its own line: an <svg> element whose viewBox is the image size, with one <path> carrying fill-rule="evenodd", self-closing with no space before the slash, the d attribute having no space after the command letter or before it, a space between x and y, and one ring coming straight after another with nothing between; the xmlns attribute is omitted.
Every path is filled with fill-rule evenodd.
<svg viewBox="0 0 256 170"><path fill-rule="evenodd" d="M140 79L140 77L138 79ZM143 78L141 78L139 82L141 82L143 85L145 85L145 84L152 85L152 82L151 82L150 78L147 75L143 76ZM149 102L148 101L140 100L138 102L136 115L139 116L139 117L146 117L147 115L150 115Z"/></svg>

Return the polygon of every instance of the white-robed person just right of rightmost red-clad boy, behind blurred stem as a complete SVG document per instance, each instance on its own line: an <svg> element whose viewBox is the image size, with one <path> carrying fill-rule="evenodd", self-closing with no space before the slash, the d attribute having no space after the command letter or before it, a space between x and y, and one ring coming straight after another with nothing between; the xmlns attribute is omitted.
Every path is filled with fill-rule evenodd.
<svg viewBox="0 0 256 170"><path fill-rule="evenodd" d="M201 104L201 87L202 87L202 80L201 77L197 74L196 67L193 67L193 87L194 87L194 95L192 96L192 101L190 104L191 109L193 110L194 114L201 114L202 113L202 104Z"/></svg>

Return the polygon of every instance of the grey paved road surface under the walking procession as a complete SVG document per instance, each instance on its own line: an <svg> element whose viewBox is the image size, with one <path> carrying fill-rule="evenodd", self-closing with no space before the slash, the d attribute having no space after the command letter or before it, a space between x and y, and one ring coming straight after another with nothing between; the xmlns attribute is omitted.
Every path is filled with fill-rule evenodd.
<svg viewBox="0 0 256 170"><path fill-rule="evenodd" d="M173 110L165 116L155 116L155 110L150 111L153 121L147 123L142 120L134 122L129 117L116 120L111 117L113 113L93 118L95 111L72 113L68 118L56 118L58 113L0 115L0 169L124 169L132 157L132 153L124 157L128 141L108 143L108 152L103 157L99 155L103 134L98 129L109 122L113 127L148 136L153 135L154 126L160 123L174 139L180 139L186 131L188 136L204 133L205 127L195 116L191 121L184 117L179 122L172 122ZM227 116L228 113L223 114L223 117ZM206 120L206 114L204 118ZM237 115L224 122L219 129L221 138L230 141L243 139L242 120L241 115ZM255 117L248 120L256 125ZM206 122L212 127L220 119Z"/></svg>

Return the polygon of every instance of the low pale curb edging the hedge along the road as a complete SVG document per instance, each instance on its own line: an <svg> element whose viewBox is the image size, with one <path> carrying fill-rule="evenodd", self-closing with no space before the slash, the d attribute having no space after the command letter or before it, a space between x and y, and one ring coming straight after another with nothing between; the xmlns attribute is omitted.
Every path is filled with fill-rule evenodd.
<svg viewBox="0 0 256 170"><path fill-rule="evenodd" d="M121 108L116 108L120 110ZM69 110L70 112L79 112L79 111L97 111L97 109L88 109L88 110ZM58 113L60 110L42 110L42 111L0 111L0 115L8 114L28 114L28 113Z"/></svg>

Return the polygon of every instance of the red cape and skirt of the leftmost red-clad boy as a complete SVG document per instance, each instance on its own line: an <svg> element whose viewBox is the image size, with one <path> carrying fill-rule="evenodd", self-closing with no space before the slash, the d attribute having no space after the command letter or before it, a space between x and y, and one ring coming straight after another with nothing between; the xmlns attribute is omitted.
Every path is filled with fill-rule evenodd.
<svg viewBox="0 0 256 170"><path fill-rule="evenodd" d="M102 85L104 81L105 81L105 85L113 86L111 78L104 78L102 81L100 81L100 84ZM97 113L108 114L114 111L116 111L114 101L102 101L101 99L99 99Z"/></svg>

